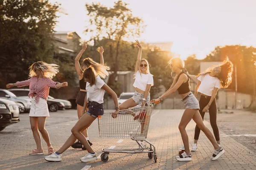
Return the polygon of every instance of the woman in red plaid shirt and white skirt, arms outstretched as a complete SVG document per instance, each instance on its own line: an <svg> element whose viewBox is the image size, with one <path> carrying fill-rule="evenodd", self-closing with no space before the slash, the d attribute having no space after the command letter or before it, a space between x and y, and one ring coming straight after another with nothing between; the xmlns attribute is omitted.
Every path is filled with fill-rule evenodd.
<svg viewBox="0 0 256 170"><path fill-rule="evenodd" d="M58 73L58 65L47 64L45 62L35 62L29 67L30 79L9 83L7 88L17 86L18 88L29 86L29 99L31 99L31 109L29 112L30 125L36 143L36 149L32 150L29 155L44 154L41 144L40 131L44 141L48 146L48 153L54 152L52 144L49 139L49 134L45 129L46 118L49 117L47 106L47 98L49 95L49 88L61 88L67 86L67 82L59 83L52 81L55 74Z"/></svg>

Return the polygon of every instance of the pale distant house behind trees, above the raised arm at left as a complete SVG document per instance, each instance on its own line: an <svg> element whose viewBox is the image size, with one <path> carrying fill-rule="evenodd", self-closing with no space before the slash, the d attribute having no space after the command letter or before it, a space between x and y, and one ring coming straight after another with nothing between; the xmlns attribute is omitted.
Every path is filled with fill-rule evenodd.
<svg viewBox="0 0 256 170"><path fill-rule="evenodd" d="M57 31L54 33L55 45L58 47L58 53L68 53L75 55L79 40L81 37L76 31Z"/></svg>

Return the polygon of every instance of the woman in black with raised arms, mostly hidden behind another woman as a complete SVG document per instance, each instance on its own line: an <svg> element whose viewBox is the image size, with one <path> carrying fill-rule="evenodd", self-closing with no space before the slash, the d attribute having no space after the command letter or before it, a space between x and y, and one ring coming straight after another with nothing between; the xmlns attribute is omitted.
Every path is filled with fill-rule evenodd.
<svg viewBox="0 0 256 170"><path fill-rule="evenodd" d="M83 111L83 108L84 108L84 99L85 99L85 96L86 96L86 82L84 82L84 79L83 79L83 70L85 68L87 68L89 65L95 65L93 62L89 62L89 65L85 65L83 64L82 65L82 68L80 67L80 64L79 64L79 59L81 58L82 54L84 53L85 49L87 48L87 45L84 44L82 45L82 49L81 51L79 52L79 54L76 56L75 58L75 67L76 67L76 72L79 76L79 86L80 86L80 91L76 97L76 104L77 104L77 116L78 116L78 119L80 119L81 117L81 114L82 114L82 111ZM100 47L99 49L99 54L100 54L100 64L103 65L104 63L104 59L103 59L103 52L104 52L104 49L102 47ZM98 64L98 63L97 63ZM85 138L87 139L88 143L90 145L93 145L90 141L89 141L89 137L88 137L88 129L85 129L83 132L83 135L85 136ZM81 142L77 141L75 142L74 144L72 144L73 148L82 148L82 150L85 150L85 147L83 147L83 145L81 144Z"/></svg>

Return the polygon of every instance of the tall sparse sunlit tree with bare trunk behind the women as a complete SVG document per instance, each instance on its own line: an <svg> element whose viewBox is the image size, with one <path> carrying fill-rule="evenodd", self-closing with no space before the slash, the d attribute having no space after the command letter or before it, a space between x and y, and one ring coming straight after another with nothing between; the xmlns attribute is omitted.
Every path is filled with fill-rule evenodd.
<svg viewBox="0 0 256 170"><path fill-rule="evenodd" d="M109 48L110 59L115 60L113 65L110 65L113 74L109 77L108 85L111 86L114 85L117 71L119 71L119 52L123 40L139 36L144 28L143 20L134 17L127 5L121 0L115 2L111 8L107 8L100 3L87 3L85 5L91 25L85 32L93 35L91 40L107 38L108 44L106 47ZM115 57L113 49L115 49Z"/></svg>

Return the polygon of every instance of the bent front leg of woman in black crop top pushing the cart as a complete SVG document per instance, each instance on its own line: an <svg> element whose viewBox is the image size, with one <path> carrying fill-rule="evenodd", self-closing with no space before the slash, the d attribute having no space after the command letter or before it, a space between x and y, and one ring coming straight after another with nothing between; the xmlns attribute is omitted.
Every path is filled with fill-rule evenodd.
<svg viewBox="0 0 256 170"><path fill-rule="evenodd" d="M192 117L195 114L195 109L186 109L181 117L180 124L179 124L179 130L181 134L181 138L185 147L185 152L187 154L190 154L189 150L189 137L186 133L186 126L191 121Z"/></svg>

